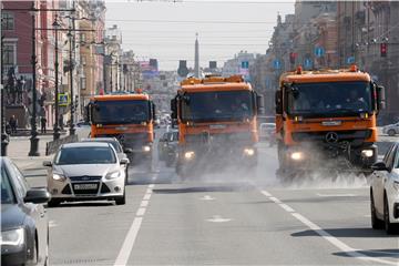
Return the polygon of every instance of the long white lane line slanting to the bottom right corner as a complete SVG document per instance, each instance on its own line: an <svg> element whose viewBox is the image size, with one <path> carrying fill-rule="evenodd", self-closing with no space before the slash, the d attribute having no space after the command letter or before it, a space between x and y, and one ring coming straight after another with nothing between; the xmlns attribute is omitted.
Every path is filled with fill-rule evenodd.
<svg viewBox="0 0 399 266"><path fill-rule="evenodd" d="M289 207L289 206L282 203L282 201L279 201L277 197L272 196L272 194L266 191L262 191L260 193L264 195L268 195L267 197L270 201L273 201L274 203L276 203L277 205L283 207L286 212L288 212L286 209L286 207ZM285 205L286 207L282 206L282 205ZM301 222L304 225L308 226L311 231L315 231L316 234L318 234L324 239L331 243L334 246L336 246L337 248L339 248L341 252L346 253L347 255L358 258L358 259L362 259L362 260L369 260L369 262L375 262L375 263L379 263L379 264L397 265L395 262L370 257L361 252L356 250L355 248L352 248L352 247L348 246L347 244L345 244L344 242L339 241L337 237L330 235L328 232L324 231L321 227L319 227L317 224L313 223L311 221L309 221L301 214L296 213L291 207L289 207L289 209L291 209L293 212L288 212L288 213L290 213L296 219Z"/></svg>

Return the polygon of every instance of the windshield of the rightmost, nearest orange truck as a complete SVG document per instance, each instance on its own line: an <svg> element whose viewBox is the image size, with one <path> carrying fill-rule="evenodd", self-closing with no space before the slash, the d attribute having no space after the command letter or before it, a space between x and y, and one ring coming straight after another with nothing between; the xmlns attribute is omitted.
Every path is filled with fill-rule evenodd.
<svg viewBox="0 0 399 266"><path fill-rule="evenodd" d="M344 116L371 112L368 82L297 83L288 92L288 113L305 116Z"/></svg>

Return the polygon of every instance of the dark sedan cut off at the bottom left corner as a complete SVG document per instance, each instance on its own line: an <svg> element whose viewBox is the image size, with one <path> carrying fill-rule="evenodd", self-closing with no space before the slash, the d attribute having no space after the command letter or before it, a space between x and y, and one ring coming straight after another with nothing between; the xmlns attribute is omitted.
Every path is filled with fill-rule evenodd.
<svg viewBox="0 0 399 266"><path fill-rule="evenodd" d="M30 188L16 164L1 164L1 265L48 265L49 223L45 188Z"/></svg>

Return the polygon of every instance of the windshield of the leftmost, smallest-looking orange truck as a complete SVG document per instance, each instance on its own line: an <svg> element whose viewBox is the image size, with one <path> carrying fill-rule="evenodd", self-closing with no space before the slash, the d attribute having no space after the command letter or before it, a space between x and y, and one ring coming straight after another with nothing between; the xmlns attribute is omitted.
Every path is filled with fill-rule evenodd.
<svg viewBox="0 0 399 266"><path fill-rule="evenodd" d="M149 101L98 101L92 109L94 124L132 124L150 120Z"/></svg>

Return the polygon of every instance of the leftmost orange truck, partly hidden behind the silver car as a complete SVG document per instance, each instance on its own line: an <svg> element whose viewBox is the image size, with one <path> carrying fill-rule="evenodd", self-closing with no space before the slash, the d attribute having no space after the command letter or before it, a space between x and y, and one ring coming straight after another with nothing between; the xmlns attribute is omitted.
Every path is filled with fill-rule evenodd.
<svg viewBox="0 0 399 266"><path fill-rule="evenodd" d="M155 105L147 94L95 95L86 112L91 137L116 137L133 164L151 167Z"/></svg>

